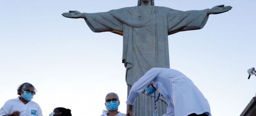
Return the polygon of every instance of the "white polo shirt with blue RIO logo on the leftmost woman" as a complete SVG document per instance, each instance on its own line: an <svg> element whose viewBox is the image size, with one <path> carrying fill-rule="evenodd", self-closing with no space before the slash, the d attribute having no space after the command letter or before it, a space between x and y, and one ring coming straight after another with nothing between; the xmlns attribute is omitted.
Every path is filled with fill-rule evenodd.
<svg viewBox="0 0 256 116"><path fill-rule="evenodd" d="M43 116L40 106L34 101L24 104L19 97L5 102L0 109L0 116L11 114L13 111L20 111L20 116Z"/></svg>

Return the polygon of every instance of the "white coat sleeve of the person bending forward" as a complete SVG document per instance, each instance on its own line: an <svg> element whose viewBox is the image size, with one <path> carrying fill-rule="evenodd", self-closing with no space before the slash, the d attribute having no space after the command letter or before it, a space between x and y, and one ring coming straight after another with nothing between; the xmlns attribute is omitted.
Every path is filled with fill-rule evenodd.
<svg viewBox="0 0 256 116"><path fill-rule="evenodd" d="M158 68L150 69L144 76L142 76L134 85L131 87L130 94L127 98L126 104L133 105L135 99L139 96L139 94L145 90L147 85L152 82L157 75L159 74Z"/></svg>

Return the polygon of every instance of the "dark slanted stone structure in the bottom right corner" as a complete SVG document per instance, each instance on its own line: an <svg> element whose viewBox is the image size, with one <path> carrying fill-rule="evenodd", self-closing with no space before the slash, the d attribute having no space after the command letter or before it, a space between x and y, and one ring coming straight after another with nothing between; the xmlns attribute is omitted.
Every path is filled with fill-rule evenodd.
<svg viewBox="0 0 256 116"><path fill-rule="evenodd" d="M253 97L240 116L256 116L256 97Z"/></svg>

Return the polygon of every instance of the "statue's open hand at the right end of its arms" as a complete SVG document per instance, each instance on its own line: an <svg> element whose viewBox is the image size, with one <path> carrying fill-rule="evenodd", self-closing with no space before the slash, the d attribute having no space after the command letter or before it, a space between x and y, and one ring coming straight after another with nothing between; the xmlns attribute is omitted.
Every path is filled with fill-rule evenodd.
<svg viewBox="0 0 256 116"><path fill-rule="evenodd" d="M208 15L228 12L229 10L231 10L231 8L231 6L217 5L209 9Z"/></svg>

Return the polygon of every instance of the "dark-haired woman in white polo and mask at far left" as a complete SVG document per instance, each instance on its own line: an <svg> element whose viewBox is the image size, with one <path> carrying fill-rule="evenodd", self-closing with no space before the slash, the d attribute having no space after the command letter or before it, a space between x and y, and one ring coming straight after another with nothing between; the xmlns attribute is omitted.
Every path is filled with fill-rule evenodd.
<svg viewBox="0 0 256 116"><path fill-rule="evenodd" d="M36 93L30 83L23 83L17 89L19 97L5 102L0 109L0 116L43 116L40 106L32 101Z"/></svg>

